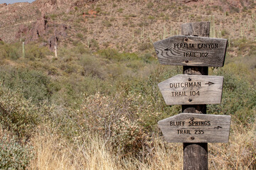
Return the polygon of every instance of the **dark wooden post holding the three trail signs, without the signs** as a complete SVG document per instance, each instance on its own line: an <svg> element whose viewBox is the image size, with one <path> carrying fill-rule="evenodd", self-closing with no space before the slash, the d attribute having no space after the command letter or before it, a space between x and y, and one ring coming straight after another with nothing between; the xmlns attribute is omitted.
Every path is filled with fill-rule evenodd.
<svg viewBox="0 0 256 170"><path fill-rule="evenodd" d="M182 35L209 37L210 22L184 23L181 26ZM183 74L208 75L208 67L183 66ZM183 113L206 113L206 105L183 105ZM183 169L208 169L208 144L183 143Z"/></svg>

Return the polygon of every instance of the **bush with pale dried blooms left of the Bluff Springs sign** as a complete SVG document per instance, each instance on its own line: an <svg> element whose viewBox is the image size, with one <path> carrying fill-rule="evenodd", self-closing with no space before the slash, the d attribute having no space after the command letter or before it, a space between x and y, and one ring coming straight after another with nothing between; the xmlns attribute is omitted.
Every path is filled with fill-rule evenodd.
<svg viewBox="0 0 256 170"><path fill-rule="evenodd" d="M81 126L90 128L92 132L100 132L102 137L109 139L117 152L132 154L142 147L144 135L137 122L137 113L129 110L131 99L100 94L86 98Z"/></svg>

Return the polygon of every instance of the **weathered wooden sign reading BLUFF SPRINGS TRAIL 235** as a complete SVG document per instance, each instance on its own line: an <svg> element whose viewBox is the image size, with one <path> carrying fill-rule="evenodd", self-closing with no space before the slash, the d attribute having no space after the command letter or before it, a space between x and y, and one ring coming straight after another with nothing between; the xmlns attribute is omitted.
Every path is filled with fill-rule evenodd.
<svg viewBox="0 0 256 170"><path fill-rule="evenodd" d="M230 115L180 113L159 121L167 142L228 142Z"/></svg>

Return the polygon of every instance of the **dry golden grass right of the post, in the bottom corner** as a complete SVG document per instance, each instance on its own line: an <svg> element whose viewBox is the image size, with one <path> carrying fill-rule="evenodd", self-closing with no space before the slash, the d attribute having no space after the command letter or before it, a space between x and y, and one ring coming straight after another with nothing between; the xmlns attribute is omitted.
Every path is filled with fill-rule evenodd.
<svg viewBox="0 0 256 170"><path fill-rule="evenodd" d="M231 124L228 144L209 145L211 169L256 169L256 125Z"/></svg>

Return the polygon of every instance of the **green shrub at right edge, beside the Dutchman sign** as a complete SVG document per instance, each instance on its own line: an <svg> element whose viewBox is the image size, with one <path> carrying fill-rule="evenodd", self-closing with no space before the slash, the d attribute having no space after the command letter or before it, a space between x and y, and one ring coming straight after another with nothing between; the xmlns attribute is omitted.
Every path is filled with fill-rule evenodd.
<svg viewBox="0 0 256 170"><path fill-rule="evenodd" d="M217 75L224 77L222 102L220 105L208 105L208 111L233 115L237 123L247 125L255 118L256 91L255 86L247 80L246 71L240 69L239 74L235 74L234 64L218 70Z"/></svg>

